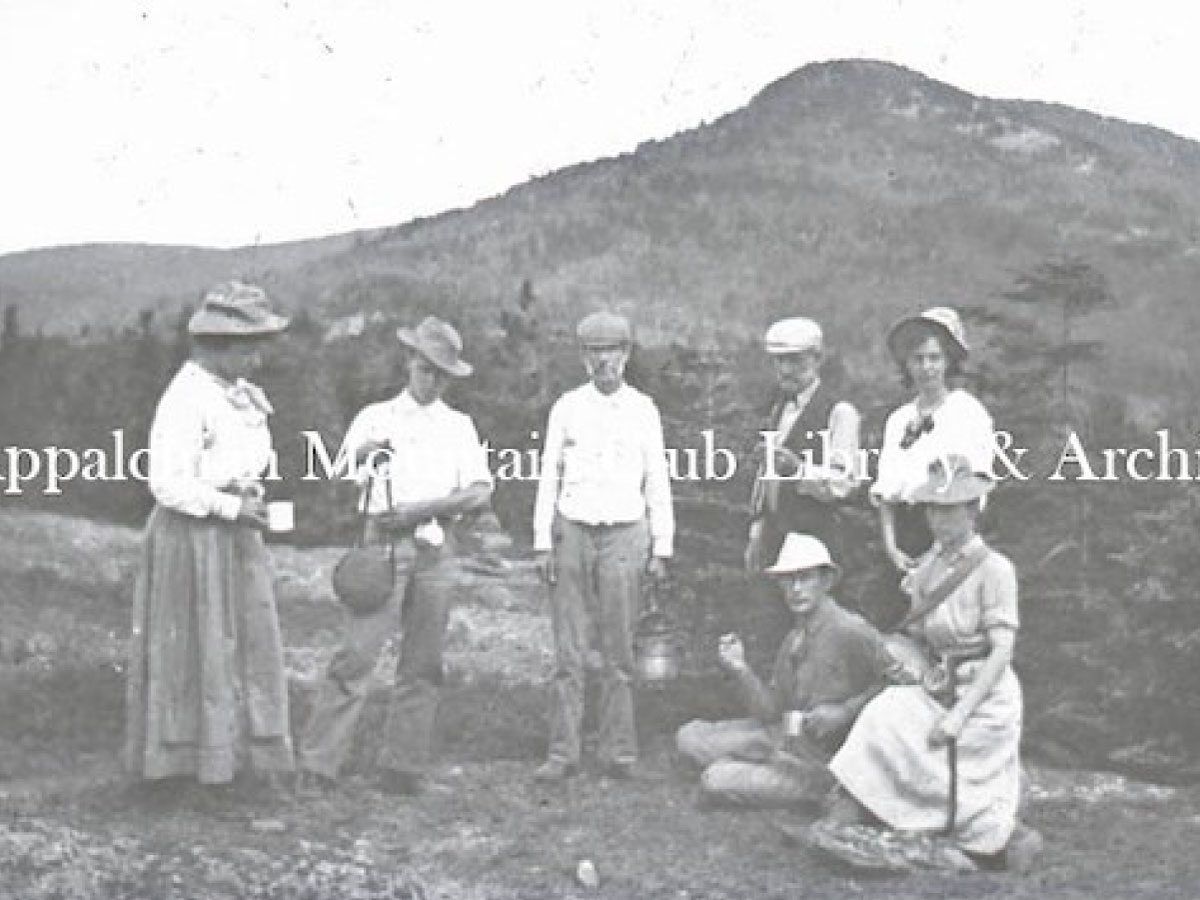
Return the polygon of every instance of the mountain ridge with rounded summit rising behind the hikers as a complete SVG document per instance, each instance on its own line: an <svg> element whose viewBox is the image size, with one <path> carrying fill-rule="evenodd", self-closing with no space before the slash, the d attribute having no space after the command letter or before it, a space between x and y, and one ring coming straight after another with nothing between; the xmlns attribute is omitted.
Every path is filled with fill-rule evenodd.
<svg viewBox="0 0 1200 900"><path fill-rule="evenodd" d="M438 308L479 325L529 278L556 319L624 306L652 340L712 319L750 336L805 311L852 361L877 365L896 314L991 305L1021 272L1070 257L1118 301L1092 328L1153 384L1189 365L1178 350L1200 328L1198 182L1200 144L1169 131L838 60L712 122L392 227L235 250L6 254L0 302L72 334L244 275L320 317ZM1147 352L1158 343L1165 353Z"/></svg>

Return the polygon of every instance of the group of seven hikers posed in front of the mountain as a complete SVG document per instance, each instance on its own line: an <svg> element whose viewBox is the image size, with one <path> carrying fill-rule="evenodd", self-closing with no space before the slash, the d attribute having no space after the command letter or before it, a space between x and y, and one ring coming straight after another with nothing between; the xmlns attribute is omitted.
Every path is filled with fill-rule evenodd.
<svg viewBox="0 0 1200 900"><path fill-rule="evenodd" d="M133 604L126 763L139 780L222 786L235 775L301 796L337 776L384 646L400 636L378 787L416 794L436 760L443 642L460 530L490 502L493 476L470 418L446 406L472 374L458 332L430 316L396 332L407 384L353 419L342 458L360 486L368 545L391 547L394 589L347 612L293 746L263 475L272 412L248 378L288 320L258 287L210 289L192 317L192 354L150 432L150 491ZM671 480L659 410L625 380L630 322L595 312L576 328L587 380L551 407L533 518L550 590L556 662L545 785L583 769L584 684L599 680L593 769L646 776L635 728L634 631L643 578L673 553ZM748 584L774 586L793 626L768 679L736 634L720 637L745 718L683 726L677 750L706 803L818 804L832 828L938 833L967 865L1027 869L1040 836L1018 818L1021 690L1012 563L976 530L994 487L992 424L952 386L968 355L948 307L900 320L888 349L911 402L887 419L870 497L895 587L887 632L833 596L841 510L865 479L859 414L821 378L817 323L766 332L778 402L756 449ZM192 788L199 790L199 788ZM203 794L204 790L199 790Z"/></svg>

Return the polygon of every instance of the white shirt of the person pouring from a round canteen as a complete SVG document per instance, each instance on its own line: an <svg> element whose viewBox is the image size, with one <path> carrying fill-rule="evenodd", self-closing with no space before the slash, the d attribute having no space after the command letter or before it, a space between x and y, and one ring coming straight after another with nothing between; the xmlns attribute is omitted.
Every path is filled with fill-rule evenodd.
<svg viewBox="0 0 1200 900"><path fill-rule="evenodd" d="M391 502L419 503L445 497L474 484L492 485L487 451L479 442L470 416L451 409L440 400L421 406L408 390L391 400L364 407L350 422L340 455L347 464L368 440L386 440L389 450L368 457L355 469L359 484L372 481L367 511L388 509Z"/></svg>

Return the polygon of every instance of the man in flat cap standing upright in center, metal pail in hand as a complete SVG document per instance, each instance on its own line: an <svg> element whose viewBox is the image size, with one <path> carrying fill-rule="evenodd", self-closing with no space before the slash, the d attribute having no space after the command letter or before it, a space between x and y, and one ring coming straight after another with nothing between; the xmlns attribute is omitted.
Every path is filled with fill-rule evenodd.
<svg viewBox="0 0 1200 900"><path fill-rule="evenodd" d="M587 316L576 330L590 380L550 410L534 508L534 550L551 586L557 664L550 751L535 776L560 781L581 756L584 660L601 661L601 769L636 774L632 635L643 570L666 574L674 540L662 421L625 384L631 330L623 316ZM589 646L594 634L599 646Z"/></svg>

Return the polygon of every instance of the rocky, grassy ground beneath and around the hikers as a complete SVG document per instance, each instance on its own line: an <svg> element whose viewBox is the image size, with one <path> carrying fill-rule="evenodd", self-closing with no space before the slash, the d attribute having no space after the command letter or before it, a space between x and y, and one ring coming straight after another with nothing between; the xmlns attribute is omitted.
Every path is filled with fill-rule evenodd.
<svg viewBox="0 0 1200 900"><path fill-rule="evenodd" d="M640 691L650 778L584 773L538 786L544 598L502 541L464 574L439 722L444 762L424 794L397 799L376 786L379 704L330 796L140 790L116 766L136 541L78 520L0 515L0 898L1193 898L1200 884L1200 790L1050 768L1037 752L1026 817L1049 851L1026 876L868 877L786 840L778 815L698 809L670 736L689 718L732 709L696 646L709 618L721 628L737 618L708 600L728 593L728 574L706 575L722 586L709 594L678 590L704 607L703 620L684 676ZM298 721L337 636L328 588L336 558L276 547ZM383 680L388 671L384 660ZM595 887L577 877L584 859Z"/></svg>

